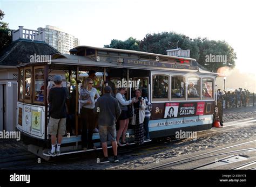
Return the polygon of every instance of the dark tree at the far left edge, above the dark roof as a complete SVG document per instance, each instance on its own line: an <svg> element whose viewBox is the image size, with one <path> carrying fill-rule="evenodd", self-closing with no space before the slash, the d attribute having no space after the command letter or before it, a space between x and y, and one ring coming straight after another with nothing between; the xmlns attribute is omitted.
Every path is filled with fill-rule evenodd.
<svg viewBox="0 0 256 187"><path fill-rule="evenodd" d="M4 18L4 12L0 9L0 20ZM8 23L0 21L0 51L7 45L11 44L11 30Z"/></svg>

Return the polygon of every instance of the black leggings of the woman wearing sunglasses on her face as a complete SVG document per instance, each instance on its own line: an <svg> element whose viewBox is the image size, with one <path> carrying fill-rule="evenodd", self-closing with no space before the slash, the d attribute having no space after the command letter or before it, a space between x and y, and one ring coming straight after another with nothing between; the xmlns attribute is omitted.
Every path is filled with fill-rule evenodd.
<svg viewBox="0 0 256 187"><path fill-rule="evenodd" d="M93 109L87 109L84 107L82 107L81 109L81 116L82 116L82 124L83 124L82 148L87 147L88 149L91 149L94 146L92 142L92 134L96 125L96 116L93 113ZM87 135L87 131L88 131L88 135Z"/></svg>

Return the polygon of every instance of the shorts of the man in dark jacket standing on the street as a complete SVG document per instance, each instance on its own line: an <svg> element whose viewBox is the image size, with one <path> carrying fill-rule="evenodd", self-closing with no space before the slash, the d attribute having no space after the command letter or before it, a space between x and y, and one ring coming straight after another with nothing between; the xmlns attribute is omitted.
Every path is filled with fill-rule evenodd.
<svg viewBox="0 0 256 187"><path fill-rule="evenodd" d="M107 141L116 141L116 125L102 126L99 125L99 139L100 142L104 143Z"/></svg>

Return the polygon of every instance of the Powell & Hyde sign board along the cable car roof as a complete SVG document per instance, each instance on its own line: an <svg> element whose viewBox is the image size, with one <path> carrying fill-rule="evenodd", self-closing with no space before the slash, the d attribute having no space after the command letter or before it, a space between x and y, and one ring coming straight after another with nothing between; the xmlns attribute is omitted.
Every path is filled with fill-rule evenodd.
<svg viewBox="0 0 256 187"><path fill-rule="evenodd" d="M198 70L197 66L187 66L180 62L177 62L177 63L180 63L180 64L177 64L177 63L170 63L170 62L158 62L158 61L152 61L152 60L124 59L123 63L131 64L135 66L150 66L150 67L161 67L161 68Z"/></svg>

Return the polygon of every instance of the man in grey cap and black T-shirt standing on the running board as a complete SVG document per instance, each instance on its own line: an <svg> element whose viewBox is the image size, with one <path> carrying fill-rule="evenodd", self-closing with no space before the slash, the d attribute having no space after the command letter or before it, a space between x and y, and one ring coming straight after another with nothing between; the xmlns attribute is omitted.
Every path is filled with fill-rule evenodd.
<svg viewBox="0 0 256 187"><path fill-rule="evenodd" d="M48 103L50 107L50 120L48 124L48 132L51 134L51 156L60 155L60 144L62 136L66 131L66 100L69 99L69 92L62 87L62 76L55 75L53 77L55 83L54 88L48 87ZM56 147L56 135L58 134L58 142Z"/></svg>

